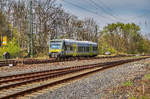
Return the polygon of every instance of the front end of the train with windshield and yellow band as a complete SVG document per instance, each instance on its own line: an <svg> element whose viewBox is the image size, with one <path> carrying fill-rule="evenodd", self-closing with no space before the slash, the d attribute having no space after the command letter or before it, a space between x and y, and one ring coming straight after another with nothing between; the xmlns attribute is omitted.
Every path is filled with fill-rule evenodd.
<svg viewBox="0 0 150 99"><path fill-rule="evenodd" d="M63 41L61 40L52 40L50 41L49 45L49 57L50 58L59 58L62 57L62 47L63 47Z"/></svg>

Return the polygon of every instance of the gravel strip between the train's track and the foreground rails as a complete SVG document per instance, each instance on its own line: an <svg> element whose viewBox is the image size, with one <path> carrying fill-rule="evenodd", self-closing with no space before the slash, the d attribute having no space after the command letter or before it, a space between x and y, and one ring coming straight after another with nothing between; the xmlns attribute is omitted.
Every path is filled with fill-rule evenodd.
<svg viewBox="0 0 150 99"><path fill-rule="evenodd" d="M116 60L127 59L129 57L120 57L120 58L103 58L103 59L93 59L93 60L75 60L75 61L66 61L66 62L56 62L56 63L48 63L48 64L33 64L33 65L18 65L13 67L0 67L0 77L14 75L14 74L22 74L29 72L38 72L45 71L51 69L72 67L72 66L81 66L87 64L96 64L100 62L111 62Z"/></svg>

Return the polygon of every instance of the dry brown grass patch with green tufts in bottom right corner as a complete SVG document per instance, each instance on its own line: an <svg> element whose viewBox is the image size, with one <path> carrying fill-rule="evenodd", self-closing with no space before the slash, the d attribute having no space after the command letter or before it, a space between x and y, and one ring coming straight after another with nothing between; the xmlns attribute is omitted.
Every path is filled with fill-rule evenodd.
<svg viewBox="0 0 150 99"><path fill-rule="evenodd" d="M107 99L150 99L150 62L145 75L108 89Z"/></svg>

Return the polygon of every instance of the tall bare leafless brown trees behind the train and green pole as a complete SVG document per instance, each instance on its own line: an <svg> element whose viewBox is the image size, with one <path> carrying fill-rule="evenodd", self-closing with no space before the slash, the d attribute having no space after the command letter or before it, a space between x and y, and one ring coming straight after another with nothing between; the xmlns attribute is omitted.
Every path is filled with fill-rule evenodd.
<svg viewBox="0 0 150 99"><path fill-rule="evenodd" d="M17 38L22 49L28 47L29 1L1 0L0 8L6 15L11 35ZM94 41L96 22L79 20L66 13L56 0L33 0L33 34L36 52L45 52L48 42L55 38Z"/></svg>

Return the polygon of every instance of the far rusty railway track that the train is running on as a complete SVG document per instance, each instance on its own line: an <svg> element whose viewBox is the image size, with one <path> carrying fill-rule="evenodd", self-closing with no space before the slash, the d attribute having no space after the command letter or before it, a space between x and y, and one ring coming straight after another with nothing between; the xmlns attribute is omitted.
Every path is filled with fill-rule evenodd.
<svg viewBox="0 0 150 99"><path fill-rule="evenodd" d="M131 55L130 55L131 56ZM79 57L79 58L66 58L63 60L58 59L23 59L23 60L0 60L0 67L1 66L9 66L12 64L16 66L17 64L43 64L43 63L54 63L54 62L62 62L62 61L72 61L72 60L91 60L91 59L102 59L102 58L115 58L115 57L129 57L129 56L103 56L103 57Z"/></svg>

